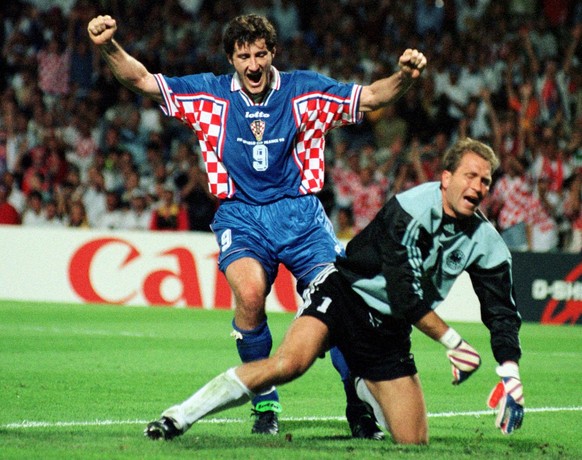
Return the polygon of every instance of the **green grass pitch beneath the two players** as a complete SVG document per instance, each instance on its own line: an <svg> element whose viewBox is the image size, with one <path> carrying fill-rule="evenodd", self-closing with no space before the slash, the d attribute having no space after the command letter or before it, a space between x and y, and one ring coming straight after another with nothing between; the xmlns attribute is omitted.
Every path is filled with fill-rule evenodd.
<svg viewBox="0 0 582 460"><path fill-rule="evenodd" d="M171 442L145 423L238 364L232 313L184 308L0 302L0 459L582 459L582 329L524 324L526 415L503 436L485 400L497 382L488 333L455 324L483 358L458 387L444 349L413 334L429 446L353 440L329 358L280 388L279 436L250 434L248 405L211 416ZM278 343L293 317L271 313Z"/></svg>

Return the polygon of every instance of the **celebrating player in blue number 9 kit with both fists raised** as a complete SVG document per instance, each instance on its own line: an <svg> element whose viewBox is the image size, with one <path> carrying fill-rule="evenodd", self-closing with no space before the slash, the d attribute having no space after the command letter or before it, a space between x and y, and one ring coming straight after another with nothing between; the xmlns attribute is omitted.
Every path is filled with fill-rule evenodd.
<svg viewBox="0 0 582 460"><path fill-rule="evenodd" d="M273 25L265 17L245 15L230 21L223 37L233 74L170 78L150 73L124 51L114 39L116 29L116 20L107 15L88 25L117 79L196 133L210 191L221 202L212 230L219 267L234 293L237 349L243 362L264 359L272 346L265 298L279 264L293 273L302 292L344 255L314 195L323 187L325 134L394 102L418 79L426 58L407 49L396 73L368 86L309 71L280 72L273 66ZM381 439L343 357L334 350L331 355L346 389L352 435ZM253 432L277 433L277 390L265 387L252 402ZM152 426L148 435L165 436L166 428Z"/></svg>

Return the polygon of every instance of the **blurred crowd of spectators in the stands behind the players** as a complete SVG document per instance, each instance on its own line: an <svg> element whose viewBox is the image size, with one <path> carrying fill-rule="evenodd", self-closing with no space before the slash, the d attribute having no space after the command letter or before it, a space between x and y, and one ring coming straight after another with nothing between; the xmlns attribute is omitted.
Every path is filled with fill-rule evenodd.
<svg viewBox="0 0 582 460"><path fill-rule="evenodd" d="M367 84L405 48L428 68L397 104L332 131L319 194L349 239L387 198L438 180L459 137L501 160L483 213L512 250L582 251L582 2L574 0L14 0L0 11L0 223L209 231L192 132L123 88L89 20L152 72L228 73L223 26L255 12L275 66Z"/></svg>

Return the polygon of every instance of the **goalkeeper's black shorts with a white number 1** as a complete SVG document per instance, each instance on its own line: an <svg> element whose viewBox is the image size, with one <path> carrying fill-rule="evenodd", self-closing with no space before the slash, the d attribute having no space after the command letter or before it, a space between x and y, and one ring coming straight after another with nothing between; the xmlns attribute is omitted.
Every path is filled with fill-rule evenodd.
<svg viewBox="0 0 582 460"><path fill-rule="evenodd" d="M410 324L370 308L339 272L304 294L299 316L307 315L327 325L330 345L354 376L380 381L416 374Z"/></svg>

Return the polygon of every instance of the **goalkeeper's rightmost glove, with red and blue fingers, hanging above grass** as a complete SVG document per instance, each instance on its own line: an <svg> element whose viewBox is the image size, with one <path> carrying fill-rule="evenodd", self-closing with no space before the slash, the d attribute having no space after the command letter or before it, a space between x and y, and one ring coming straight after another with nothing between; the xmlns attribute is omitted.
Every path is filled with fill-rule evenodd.
<svg viewBox="0 0 582 460"><path fill-rule="evenodd" d="M491 391L487 405L491 409L497 408L495 426L503 434L511 434L521 427L524 415L523 386L519 378L519 367L513 361L506 361L495 369L501 377Z"/></svg>

